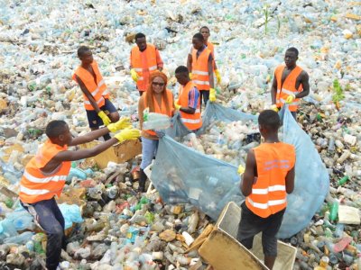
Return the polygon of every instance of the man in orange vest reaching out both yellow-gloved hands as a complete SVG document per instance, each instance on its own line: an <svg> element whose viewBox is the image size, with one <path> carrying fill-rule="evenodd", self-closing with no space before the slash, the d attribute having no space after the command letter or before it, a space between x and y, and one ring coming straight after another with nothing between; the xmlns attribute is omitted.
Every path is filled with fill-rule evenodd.
<svg viewBox="0 0 361 270"><path fill-rule="evenodd" d="M116 130L121 131L95 148L68 150L69 146L92 141ZM71 161L96 156L118 141L138 139L140 130L133 129L129 119L123 118L108 124L106 128L73 139L65 121L51 121L46 127L46 135L49 139L25 166L19 197L23 207L46 232L46 267L53 270L59 266L61 248L65 247L64 218L54 197L60 196Z"/></svg>

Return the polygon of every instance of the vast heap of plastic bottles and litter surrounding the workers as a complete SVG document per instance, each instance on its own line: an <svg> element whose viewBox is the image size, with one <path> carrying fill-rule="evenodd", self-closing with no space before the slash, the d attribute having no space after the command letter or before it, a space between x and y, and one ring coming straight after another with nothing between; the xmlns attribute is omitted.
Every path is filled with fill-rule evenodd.
<svg viewBox="0 0 361 270"><path fill-rule="evenodd" d="M121 115L136 121L139 97L128 71L134 34L144 32L160 49L171 77L168 86L177 93L174 69L185 64L191 36L208 25L223 76L218 102L243 112L257 113L271 104L274 68L287 47L300 50L298 64L310 75L311 93L303 99L298 119L332 182L328 200L310 226L286 240L299 248L295 267L356 269L361 253L360 16L358 2L318 0L5 1L0 13L1 264L25 269L42 263L46 239L18 208L17 184L46 138L49 121L67 121L74 135L88 131L79 87L71 81L79 45L93 50ZM221 132L215 128L200 139L204 146L211 146L207 136L216 141L217 148L203 147L205 152L242 163L245 149L229 151L238 148ZM187 233L197 238L209 220L190 205L163 205L157 193L136 195L133 163L122 165L126 170L110 166L109 171L116 167L113 173L91 163L75 165L77 176L70 177L64 192L70 199L59 202L65 203L62 211L72 224L62 268L199 265L195 251L184 254L192 240ZM114 175L116 171L122 173Z"/></svg>

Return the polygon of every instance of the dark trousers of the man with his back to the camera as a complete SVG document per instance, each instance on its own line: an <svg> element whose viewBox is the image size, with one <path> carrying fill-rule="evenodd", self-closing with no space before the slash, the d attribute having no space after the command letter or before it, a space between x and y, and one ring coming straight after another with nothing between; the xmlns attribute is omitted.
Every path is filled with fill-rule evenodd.
<svg viewBox="0 0 361 270"><path fill-rule="evenodd" d="M262 231L264 256L277 257L276 234L281 227L283 214L286 209L264 219L250 211L245 202L242 203L241 208L242 216L238 227L237 240L248 249L251 249L254 244L255 235Z"/></svg>

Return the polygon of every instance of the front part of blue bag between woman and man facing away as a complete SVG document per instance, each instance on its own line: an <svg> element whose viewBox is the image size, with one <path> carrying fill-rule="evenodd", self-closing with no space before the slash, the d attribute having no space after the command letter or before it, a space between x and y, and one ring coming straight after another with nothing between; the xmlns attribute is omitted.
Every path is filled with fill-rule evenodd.
<svg viewBox="0 0 361 270"><path fill-rule="evenodd" d="M160 139L151 175L167 203L189 202L213 220L227 202L245 200L236 166L203 155L169 136Z"/></svg>

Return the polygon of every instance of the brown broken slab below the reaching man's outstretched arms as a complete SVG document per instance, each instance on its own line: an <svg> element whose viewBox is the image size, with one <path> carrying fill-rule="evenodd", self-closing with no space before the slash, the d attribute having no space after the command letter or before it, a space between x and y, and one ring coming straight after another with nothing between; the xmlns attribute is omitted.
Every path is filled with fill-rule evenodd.
<svg viewBox="0 0 361 270"><path fill-rule="evenodd" d="M82 145L79 145L80 148L94 148L101 141L94 140ZM107 148L104 152L98 154L95 157L89 157L89 159L94 159L99 168L105 168L109 161L115 163L124 163L129 159L142 153L142 142L138 139L134 140L125 140L122 143L118 143L110 148Z"/></svg>

